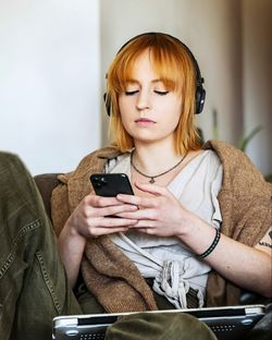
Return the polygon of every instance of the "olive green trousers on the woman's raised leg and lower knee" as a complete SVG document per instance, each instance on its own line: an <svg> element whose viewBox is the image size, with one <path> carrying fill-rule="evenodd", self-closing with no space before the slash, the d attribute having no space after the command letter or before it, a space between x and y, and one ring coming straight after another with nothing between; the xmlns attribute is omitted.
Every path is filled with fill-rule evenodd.
<svg viewBox="0 0 272 340"><path fill-rule="evenodd" d="M16 156L0 153L0 339L50 340L54 316L82 313L103 308L88 292L75 298L32 175ZM140 314L129 320L128 330L118 323L108 338L133 340L141 329L138 339L158 333L157 339L214 339L208 327L187 315L157 319ZM165 333L169 327L172 331Z"/></svg>

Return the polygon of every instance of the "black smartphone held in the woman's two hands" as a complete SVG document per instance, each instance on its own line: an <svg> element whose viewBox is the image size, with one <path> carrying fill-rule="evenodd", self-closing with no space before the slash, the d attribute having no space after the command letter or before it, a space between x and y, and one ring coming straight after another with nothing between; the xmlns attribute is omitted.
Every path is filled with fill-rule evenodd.
<svg viewBox="0 0 272 340"><path fill-rule="evenodd" d="M90 175L90 182L98 196L134 195L129 179L125 173L94 173Z"/></svg>

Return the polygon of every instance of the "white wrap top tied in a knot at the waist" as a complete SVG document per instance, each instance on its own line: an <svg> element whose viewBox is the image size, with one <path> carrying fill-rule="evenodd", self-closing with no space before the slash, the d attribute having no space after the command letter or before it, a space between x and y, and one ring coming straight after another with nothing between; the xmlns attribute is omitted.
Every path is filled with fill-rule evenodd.
<svg viewBox="0 0 272 340"><path fill-rule="evenodd" d="M107 172L131 178L131 154L111 160ZM222 165L212 150L205 150L188 162L168 185L184 207L214 228L222 221L218 194L222 185ZM186 308L189 288L198 291L203 305L210 266L194 255L177 238L159 238L135 230L115 233L112 242L138 267L145 278L154 278L153 290L176 308Z"/></svg>

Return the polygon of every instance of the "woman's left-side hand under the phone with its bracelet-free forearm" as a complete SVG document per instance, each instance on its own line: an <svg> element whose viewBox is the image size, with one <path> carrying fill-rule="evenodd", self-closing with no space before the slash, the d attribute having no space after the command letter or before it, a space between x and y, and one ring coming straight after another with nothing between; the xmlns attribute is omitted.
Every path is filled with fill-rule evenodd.
<svg viewBox="0 0 272 340"><path fill-rule="evenodd" d="M113 232L126 231L137 220L109 216L135 210L137 210L135 205L121 203L114 197L96 195L87 195L78 204L58 239L59 253L71 287L76 283L86 241Z"/></svg>

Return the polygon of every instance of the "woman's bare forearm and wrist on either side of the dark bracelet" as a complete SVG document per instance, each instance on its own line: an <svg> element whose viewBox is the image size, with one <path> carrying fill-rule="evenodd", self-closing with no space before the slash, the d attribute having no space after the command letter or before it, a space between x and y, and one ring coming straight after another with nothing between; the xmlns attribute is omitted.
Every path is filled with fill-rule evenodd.
<svg viewBox="0 0 272 340"><path fill-rule="evenodd" d="M194 253L202 254L212 244L214 234L214 228L193 217L191 224L180 238ZM271 296L272 265L269 254L222 234L215 248L203 260L240 288Z"/></svg>

